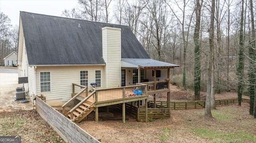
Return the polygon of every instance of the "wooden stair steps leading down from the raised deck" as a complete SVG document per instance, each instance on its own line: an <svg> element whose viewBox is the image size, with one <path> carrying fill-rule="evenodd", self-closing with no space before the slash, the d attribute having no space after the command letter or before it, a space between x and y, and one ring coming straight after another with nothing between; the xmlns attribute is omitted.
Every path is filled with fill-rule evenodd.
<svg viewBox="0 0 256 143"><path fill-rule="evenodd" d="M79 123L82 119L86 118L92 111L94 111L94 103L92 100L86 100L80 106L73 111L73 119L71 119L71 113L67 114L67 117L73 120L75 123Z"/></svg>

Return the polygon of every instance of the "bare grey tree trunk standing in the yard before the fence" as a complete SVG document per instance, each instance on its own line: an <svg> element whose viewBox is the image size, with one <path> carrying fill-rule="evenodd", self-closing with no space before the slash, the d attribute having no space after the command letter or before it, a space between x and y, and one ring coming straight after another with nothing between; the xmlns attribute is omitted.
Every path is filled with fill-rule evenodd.
<svg viewBox="0 0 256 143"><path fill-rule="evenodd" d="M209 36L209 60L208 60L208 72L207 72L207 92L204 116L211 118L211 92L212 92L212 65L213 65L213 49L214 49L214 11L215 11L215 0L212 0L211 8L211 20L210 20L210 36Z"/></svg>

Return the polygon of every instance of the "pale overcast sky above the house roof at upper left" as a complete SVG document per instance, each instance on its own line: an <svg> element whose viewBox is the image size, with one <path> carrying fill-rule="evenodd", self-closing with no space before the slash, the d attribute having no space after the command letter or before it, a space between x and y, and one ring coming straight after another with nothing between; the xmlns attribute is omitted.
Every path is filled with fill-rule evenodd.
<svg viewBox="0 0 256 143"><path fill-rule="evenodd" d="M20 11L61 16L63 10L77 4L77 0L0 0L0 11L10 18L12 25L19 25Z"/></svg>

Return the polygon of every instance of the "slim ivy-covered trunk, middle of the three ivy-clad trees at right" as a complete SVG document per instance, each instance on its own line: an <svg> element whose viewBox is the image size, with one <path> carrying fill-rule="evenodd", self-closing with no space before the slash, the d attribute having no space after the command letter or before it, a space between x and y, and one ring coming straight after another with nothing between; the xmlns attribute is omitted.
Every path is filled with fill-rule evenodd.
<svg viewBox="0 0 256 143"><path fill-rule="evenodd" d="M242 83L244 81L244 37L243 37L243 26L244 26L244 0L242 0L242 10L241 10L241 18L240 18L240 31L239 31L239 61L237 67L238 74L238 105L241 106L242 102Z"/></svg>

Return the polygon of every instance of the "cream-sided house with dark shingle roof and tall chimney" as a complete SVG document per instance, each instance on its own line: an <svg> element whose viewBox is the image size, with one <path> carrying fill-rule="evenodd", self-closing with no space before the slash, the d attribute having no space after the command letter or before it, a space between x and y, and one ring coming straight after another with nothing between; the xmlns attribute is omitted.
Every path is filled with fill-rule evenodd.
<svg viewBox="0 0 256 143"><path fill-rule="evenodd" d="M150 59L128 26L20 12L19 77L28 76L30 97L51 106L71 98L72 83L96 89L167 78L178 65ZM161 68L161 69L160 69Z"/></svg>

